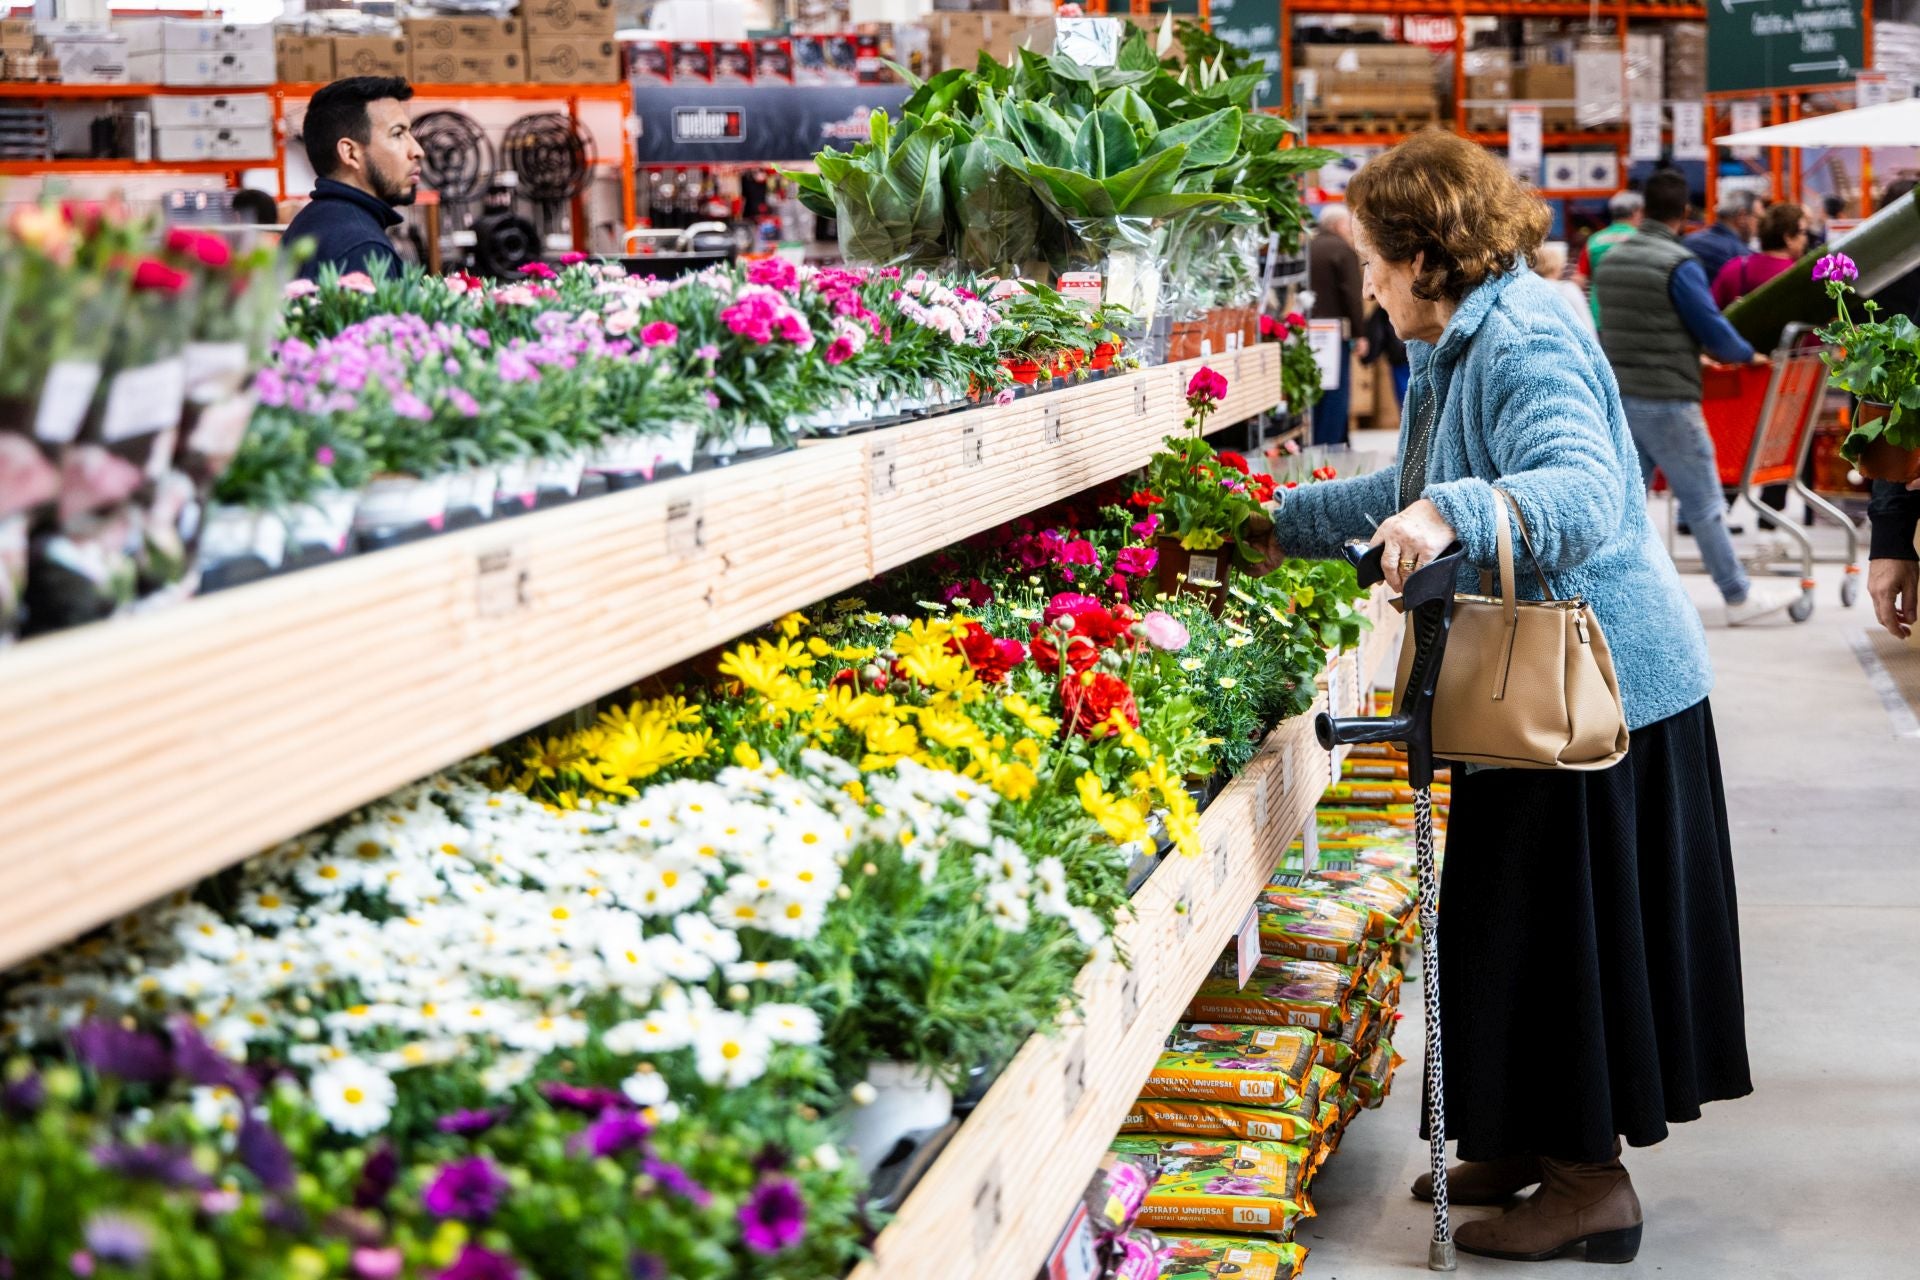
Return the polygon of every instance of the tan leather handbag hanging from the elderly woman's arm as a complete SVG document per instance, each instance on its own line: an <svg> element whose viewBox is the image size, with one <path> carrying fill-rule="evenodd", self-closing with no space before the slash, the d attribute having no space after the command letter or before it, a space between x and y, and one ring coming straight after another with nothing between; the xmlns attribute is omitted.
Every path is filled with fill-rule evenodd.
<svg viewBox="0 0 1920 1280"><path fill-rule="evenodd" d="M1607 637L1586 601L1553 599L1519 503L1505 489L1494 493L1500 595L1492 595L1492 576L1482 572L1480 595L1453 597L1434 691L1434 754L1513 770L1605 770L1626 754L1626 712ZM1513 591L1507 509L1534 560L1542 601ZM1400 647L1396 704L1407 687L1411 641L1409 631Z"/></svg>

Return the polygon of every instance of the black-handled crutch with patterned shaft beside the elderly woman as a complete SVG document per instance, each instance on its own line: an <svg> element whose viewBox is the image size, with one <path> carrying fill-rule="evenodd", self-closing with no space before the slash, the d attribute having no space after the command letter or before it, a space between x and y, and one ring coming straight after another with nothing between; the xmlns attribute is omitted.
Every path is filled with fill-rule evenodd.
<svg viewBox="0 0 1920 1280"><path fill-rule="evenodd" d="M1350 543L1346 557L1359 574L1359 585L1382 580L1384 547ZM1352 743L1400 743L1407 748L1407 783L1413 787L1415 865L1421 883L1421 988L1427 1007L1427 1136L1434 1173L1434 1236L1427 1245L1428 1270L1453 1270L1453 1228L1446 1205L1446 1096L1440 1079L1440 889L1434 883L1434 745L1432 706L1440 679L1446 633L1453 624L1453 583L1465 551L1453 543L1432 564L1407 578L1394 601L1413 635L1413 664L1407 689L1392 716L1334 720L1321 712L1313 733L1332 750Z"/></svg>

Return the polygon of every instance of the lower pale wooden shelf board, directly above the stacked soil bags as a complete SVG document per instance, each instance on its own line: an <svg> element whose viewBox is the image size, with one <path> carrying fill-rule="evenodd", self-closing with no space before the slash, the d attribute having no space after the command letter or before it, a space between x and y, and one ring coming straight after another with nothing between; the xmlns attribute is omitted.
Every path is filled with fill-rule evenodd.
<svg viewBox="0 0 1920 1280"><path fill-rule="evenodd" d="M1336 714L1363 714L1373 674L1398 652L1398 614L1384 599L1375 589L1367 606L1375 629L1332 664L1313 708L1267 735L1202 814L1206 852L1169 858L1135 894L1116 935L1133 967L1108 960L1081 973L1079 1021L1027 1040L849 1280L998 1280L1041 1270L1167 1029L1311 821L1336 768L1313 737L1313 716L1329 697Z"/></svg>

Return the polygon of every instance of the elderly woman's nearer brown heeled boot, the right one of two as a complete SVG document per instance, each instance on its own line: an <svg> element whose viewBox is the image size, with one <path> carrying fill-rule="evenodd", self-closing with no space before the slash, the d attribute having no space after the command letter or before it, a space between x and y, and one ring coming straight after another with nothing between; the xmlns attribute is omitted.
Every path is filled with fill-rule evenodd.
<svg viewBox="0 0 1920 1280"><path fill-rule="evenodd" d="M1544 1263L1586 1245L1590 1263L1632 1263L1640 1253L1640 1197L1620 1161L1540 1161L1540 1190L1492 1219L1461 1222L1463 1253Z"/></svg>

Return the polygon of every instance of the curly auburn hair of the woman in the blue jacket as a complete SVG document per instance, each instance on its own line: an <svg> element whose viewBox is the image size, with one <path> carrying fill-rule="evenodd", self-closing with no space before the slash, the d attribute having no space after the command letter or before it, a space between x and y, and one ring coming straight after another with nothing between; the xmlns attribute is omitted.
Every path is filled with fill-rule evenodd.
<svg viewBox="0 0 1920 1280"><path fill-rule="evenodd" d="M1438 129L1356 173L1346 207L1373 253L1394 263L1427 255L1415 297L1452 303L1530 257L1553 221L1492 152Z"/></svg>

